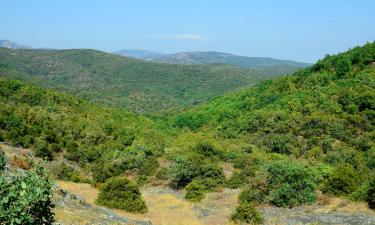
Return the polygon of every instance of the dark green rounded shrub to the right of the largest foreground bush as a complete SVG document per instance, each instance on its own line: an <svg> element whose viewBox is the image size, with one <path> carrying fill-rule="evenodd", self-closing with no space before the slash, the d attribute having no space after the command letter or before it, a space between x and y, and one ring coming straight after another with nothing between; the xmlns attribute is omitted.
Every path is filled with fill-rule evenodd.
<svg viewBox="0 0 375 225"><path fill-rule="evenodd" d="M357 176L350 164L341 163L328 178L324 191L335 195L350 194L359 186Z"/></svg>

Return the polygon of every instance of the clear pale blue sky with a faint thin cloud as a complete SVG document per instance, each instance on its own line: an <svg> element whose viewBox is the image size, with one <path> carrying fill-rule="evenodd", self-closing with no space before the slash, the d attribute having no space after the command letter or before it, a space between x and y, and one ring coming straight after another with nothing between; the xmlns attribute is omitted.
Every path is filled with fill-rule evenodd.
<svg viewBox="0 0 375 225"><path fill-rule="evenodd" d="M374 0L1 0L32 47L222 51L313 63L375 40Z"/></svg>

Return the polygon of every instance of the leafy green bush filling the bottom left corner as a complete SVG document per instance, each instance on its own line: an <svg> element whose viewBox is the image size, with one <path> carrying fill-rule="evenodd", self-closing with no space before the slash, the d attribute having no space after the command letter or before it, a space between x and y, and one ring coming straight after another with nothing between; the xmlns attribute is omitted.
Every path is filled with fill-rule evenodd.
<svg viewBox="0 0 375 225"><path fill-rule="evenodd" d="M52 224L52 184L42 167L32 171L0 174L2 224Z"/></svg>

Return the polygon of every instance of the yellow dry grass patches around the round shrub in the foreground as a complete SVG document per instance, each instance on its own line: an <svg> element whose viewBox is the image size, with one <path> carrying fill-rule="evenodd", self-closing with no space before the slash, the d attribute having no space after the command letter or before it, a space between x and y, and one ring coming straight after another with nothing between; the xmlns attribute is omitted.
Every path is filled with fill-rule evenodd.
<svg viewBox="0 0 375 225"><path fill-rule="evenodd" d="M90 204L95 204L98 190L89 184L57 181L57 184L69 192L80 195ZM137 220L149 220L154 225L229 225L230 214L237 204L238 190L225 189L218 193L209 193L202 203L190 203L183 198L183 192L167 190L165 187L146 187L142 190L148 212L134 214L115 210L117 214ZM202 216L202 212L210 211Z"/></svg>

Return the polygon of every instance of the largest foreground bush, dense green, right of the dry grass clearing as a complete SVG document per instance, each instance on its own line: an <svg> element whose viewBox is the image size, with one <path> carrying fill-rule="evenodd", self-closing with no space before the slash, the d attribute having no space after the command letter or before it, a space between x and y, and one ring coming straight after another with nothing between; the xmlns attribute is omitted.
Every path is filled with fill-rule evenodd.
<svg viewBox="0 0 375 225"><path fill-rule="evenodd" d="M261 168L250 187L240 195L240 201L272 203L293 207L316 200L313 171L291 160L272 161Z"/></svg>

